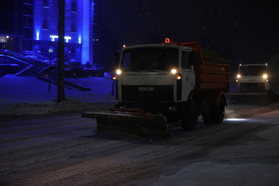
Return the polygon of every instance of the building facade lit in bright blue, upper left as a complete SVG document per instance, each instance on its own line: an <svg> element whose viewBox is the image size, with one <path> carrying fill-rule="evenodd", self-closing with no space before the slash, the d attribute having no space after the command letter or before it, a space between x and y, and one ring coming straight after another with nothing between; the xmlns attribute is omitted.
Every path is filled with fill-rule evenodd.
<svg viewBox="0 0 279 186"><path fill-rule="evenodd" d="M48 49L52 48L53 57L57 57L59 1L15 0L7 6L13 6L10 14L16 13L20 17L9 23L13 24L14 29L7 31L5 24L0 24L0 35L14 38L13 43L8 43L10 47L7 49L18 53L33 51L49 56ZM65 55L68 59L100 63L96 49L100 34L99 6L100 0L65 0ZM22 47L17 49L16 46Z"/></svg>

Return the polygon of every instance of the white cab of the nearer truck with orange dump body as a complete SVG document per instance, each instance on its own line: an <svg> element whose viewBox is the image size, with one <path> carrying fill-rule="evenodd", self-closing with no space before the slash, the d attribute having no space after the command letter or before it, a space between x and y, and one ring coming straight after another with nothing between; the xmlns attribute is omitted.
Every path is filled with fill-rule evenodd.
<svg viewBox="0 0 279 186"><path fill-rule="evenodd" d="M117 98L126 104L181 102L195 86L191 48L174 45L125 47L117 70Z"/></svg>

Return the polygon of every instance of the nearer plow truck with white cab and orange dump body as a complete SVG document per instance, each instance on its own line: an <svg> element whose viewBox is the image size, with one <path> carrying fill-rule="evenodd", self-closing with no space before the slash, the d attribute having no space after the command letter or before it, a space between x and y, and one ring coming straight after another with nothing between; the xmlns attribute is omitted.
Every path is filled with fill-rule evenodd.
<svg viewBox="0 0 279 186"><path fill-rule="evenodd" d="M207 53L208 50L206 50ZM123 47L114 76L118 104L110 111L84 111L97 128L169 136L167 124L194 130L222 123L229 92L229 63L204 55L199 42L172 42Z"/></svg>

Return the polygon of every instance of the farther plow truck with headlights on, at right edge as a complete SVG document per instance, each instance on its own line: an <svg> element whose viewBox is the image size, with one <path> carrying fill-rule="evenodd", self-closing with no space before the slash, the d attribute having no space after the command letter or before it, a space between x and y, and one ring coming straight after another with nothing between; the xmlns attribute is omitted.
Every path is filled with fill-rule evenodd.
<svg viewBox="0 0 279 186"><path fill-rule="evenodd" d="M278 58L269 63L239 64L237 92L229 93L230 102L268 104L278 100Z"/></svg>

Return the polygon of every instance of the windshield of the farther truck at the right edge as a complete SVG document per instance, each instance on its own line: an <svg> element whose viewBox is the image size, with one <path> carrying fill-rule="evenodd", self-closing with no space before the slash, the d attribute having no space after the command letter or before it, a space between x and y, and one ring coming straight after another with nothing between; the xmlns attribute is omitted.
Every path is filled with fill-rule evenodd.
<svg viewBox="0 0 279 186"><path fill-rule="evenodd" d="M243 65L239 68L239 74L241 76L262 76L265 73L265 65Z"/></svg>

